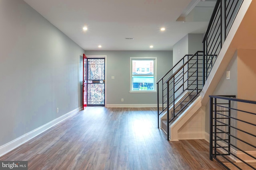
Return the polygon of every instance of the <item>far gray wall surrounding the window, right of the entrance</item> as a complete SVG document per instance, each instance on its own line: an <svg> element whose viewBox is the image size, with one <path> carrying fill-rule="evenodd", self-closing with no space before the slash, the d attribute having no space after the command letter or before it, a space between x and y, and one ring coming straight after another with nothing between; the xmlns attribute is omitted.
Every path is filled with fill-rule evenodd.
<svg viewBox="0 0 256 170"><path fill-rule="evenodd" d="M106 104L157 104L157 93L129 93L130 57L157 57L157 80L172 68L172 51L86 51L107 55ZM111 79L115 76L115 79ZM124 102L121 102L121 98Z"/></svg>

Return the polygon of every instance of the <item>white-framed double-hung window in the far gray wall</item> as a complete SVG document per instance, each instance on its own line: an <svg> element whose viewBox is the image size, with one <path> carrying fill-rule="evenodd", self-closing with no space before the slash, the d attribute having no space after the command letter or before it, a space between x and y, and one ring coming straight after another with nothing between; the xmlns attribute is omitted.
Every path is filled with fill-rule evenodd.
<svg viewBox="0 0 256 170"><path fill-rule="evenodd" d="M130 57L130 92L156 92L156 57Z"/></svg>

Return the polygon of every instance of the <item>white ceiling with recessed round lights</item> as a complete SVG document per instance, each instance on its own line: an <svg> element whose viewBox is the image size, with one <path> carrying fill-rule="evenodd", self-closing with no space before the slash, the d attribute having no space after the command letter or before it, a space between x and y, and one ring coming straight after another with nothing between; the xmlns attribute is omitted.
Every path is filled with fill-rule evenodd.
<svg viewBox="0 0 256 170"><path fill-rule="evenodd" d="M208 21L176 21L195 0L24 1L86 51L172 50L186 34L204 33L208 25Z"/></svg>

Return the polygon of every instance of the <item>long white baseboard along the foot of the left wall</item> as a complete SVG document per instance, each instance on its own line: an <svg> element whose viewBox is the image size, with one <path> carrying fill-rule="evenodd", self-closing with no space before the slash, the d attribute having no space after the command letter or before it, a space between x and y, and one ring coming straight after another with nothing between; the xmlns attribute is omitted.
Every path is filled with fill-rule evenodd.
<svg viewBox="0 0 256 170"><path fill-rule="evenodd" d="M10 141L9 143L6 143L5 145L0 146L0 156L3 156L4 154L10 152L11 150L19 147L20 145L22 145L23 143L26 143L27 141L36 137L37 135L40 135L47 129L50 129L54 125L57 125L58 123L64 121L65 119L74 115L75 113L77 113L80 110L82 110L82 107L78 107L78 108L66 113L65 115L62 115L62 116L50 121L49 123L46 123L45 125L42 125L36 129L34 129L33 131L30 131L30 132L22 135L21 137L18 137L17 139L14 139L13 141Z"/></svg>

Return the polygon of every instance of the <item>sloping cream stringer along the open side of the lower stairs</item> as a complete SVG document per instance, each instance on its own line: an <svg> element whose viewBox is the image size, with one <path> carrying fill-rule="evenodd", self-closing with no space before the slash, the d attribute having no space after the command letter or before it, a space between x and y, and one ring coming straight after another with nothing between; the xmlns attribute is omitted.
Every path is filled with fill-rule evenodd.
<svg viewBox="0 0 256 170"><path fill-rule="evenodd" d="M172 125L170 125L170 141L178 141L178 131L179 129L190 120L190 118L198 111L198 109L201 108L202 103L201 103L202 97L198 96L198 98L190 104L190 106L176 119ZM204 120L203 120L204 121ZM202 126L204 126L204 123L202 123ZM202 127L201 129L204 129ZM204 131L202 131L204 134ZM204 139L204 136L200 139Z"/></svg>

